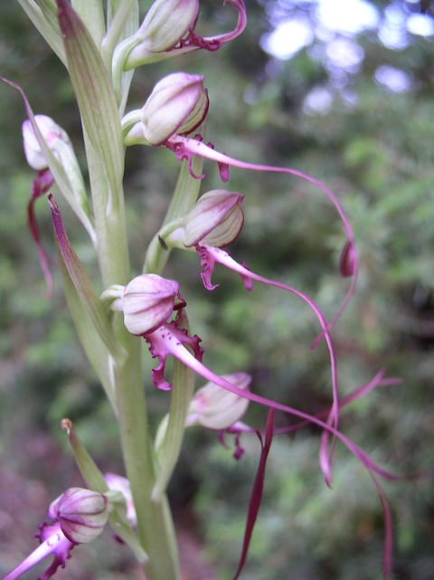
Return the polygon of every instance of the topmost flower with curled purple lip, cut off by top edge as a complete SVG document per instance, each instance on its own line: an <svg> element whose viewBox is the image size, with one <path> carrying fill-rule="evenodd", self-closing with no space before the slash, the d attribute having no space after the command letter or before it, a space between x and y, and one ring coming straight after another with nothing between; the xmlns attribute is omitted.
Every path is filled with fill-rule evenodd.
<svg viewBox="0 0 434 580"><path fill-rule="evenodd" d="M239 36L246 26L246 9L242 0L228 0L228 3L238 11L235 28L229 33L202 37L194 32L199 0L156 0L137 33L119 45L124 71L185 52L218 50L222 44Z"/></svg>

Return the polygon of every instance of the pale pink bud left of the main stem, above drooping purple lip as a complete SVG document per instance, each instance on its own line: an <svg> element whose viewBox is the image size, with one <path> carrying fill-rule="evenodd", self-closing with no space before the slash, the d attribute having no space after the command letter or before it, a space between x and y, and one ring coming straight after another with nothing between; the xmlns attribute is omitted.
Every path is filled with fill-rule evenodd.
<svg viewBox="0 0 434 580"><path fill-rule="evenodd" d="M67 133L50 117L46 115L35 115L34 119L39 130L42 133L42 137L47 142L48 147L52 149L52 153L60 159L60 149L61 147L71 147L71 141ZM41 171L48 167L48 163L45 159L44 153L41 146L39 145L38 139L36 138L32 123L29 120L25 120L23 123L23 139L24 139L24 154L27 159L29 166L36 169L36 171Z"/></svg>

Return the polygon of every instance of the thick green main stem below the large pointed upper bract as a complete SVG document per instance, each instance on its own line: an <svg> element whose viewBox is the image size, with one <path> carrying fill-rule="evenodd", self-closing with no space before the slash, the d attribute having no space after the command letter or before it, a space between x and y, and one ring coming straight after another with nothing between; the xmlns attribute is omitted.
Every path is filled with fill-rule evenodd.
<svg viewBox="0 0 434 580"><path fill-rule="evenodd" d="M102 282L105 287L127 284L131 272L122 187L110 191L99 151L86 136L85 145ZM120 317L115 318L114 330L127 353L122 363L114 365L114 378L122 452L137 510L137 533L149 556L144 565L146 579L179 580L175 532L166 499L159 503L151 499L156 474L148 433L140 339L127 332Z"/></svg>

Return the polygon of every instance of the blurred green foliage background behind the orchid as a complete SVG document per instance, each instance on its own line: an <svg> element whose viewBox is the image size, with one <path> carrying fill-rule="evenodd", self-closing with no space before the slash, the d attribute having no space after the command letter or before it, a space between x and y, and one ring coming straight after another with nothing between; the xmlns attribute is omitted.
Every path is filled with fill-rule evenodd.
<svg viewBox="0 0 434 580"><path fill-rule="evenodd" d="M211 99L207 138L216 148L252 162L297 167L340 197L354 227L361 265L354 300L333 333L341 392L369 381L382 367L388 376L401 377L400 385L379 389L345 410L342 430L386 469L403 476L432 471L433 44L412 35L407 46L395 50L379 41L376 30L359 33L352 41L363 49L363 62L345 71L344 81L336 84L325 40L316 39L288 61L261 50L259 39L272 28L267 14L277 5L288 17L300 10L309 18L315 15L311 2L249 2L247 32L217 55L198 53L137 71L131 107L139 107L154 81L169 71L204 72ZM396 5L428 14L431 10L429 3L377 5L382 16ZM204 29L212 30L215 24L224 28L229 13L231 6L221 14L220 5L206 2ZM17 3L0 5L0 23L1 74L24 88L35 112L51 115L70 133L84 162L78 112L65 71ZM375 81L383 65L408 75L409 89L397 92ZM332 97L326 109L307 107L307 98L317 89ZM62 416L68 414L76 422L103 469L119 469L117 433L76 344L59 273L54 273L54 297L44 299L42 274L26 227L33 175L24 164L21 146L24 109L17 93L6 86L0 87L0 110L0 457L24 479L40 478L52 499L62 490L60 482L66 485L68 478L76 477L59 429ZM216 169L205 169L203 191L220 186ZM166 151L137 147L127 153L129 235L137 271L164 215L176 170ZM324 195L295 178L235 169L229 186L246 195L246 223L231 248L234 258L307 292L332 317L348 280L338 273L344 235ZM44 244L53 253L48 208L43 200L37 205ZM67 208L62 211L80 258L93 271L96 264L85 236ZM203 338L205 363L222 373L246 370L259 393L304 411L316 413L329 405L328 355L324 345L309 349L319 328L307 306L297 297L257 284L246 297L241 280L218 269L214 281L220 286L210 295L203 290L199 271L196 256L176 253L165 273L180 280L191 327ZM152 364L147 357L146 365ZM167 397L157 393L150 380L146 389L156 423L165 413ZM262 410L250 409L249 423L260 427L264 420ZM281 426L291 421L277 418ZM50 433L57 449L63 446L66 459L57 460L66 469L63 475L56 470L58 463L51 465L37 454L29 461L31 447L18 442L32 439L33 433ZM312 429L273 442L265 499L242 576L246 580L382 577L382 509L373 485L338 445L334 487L326 488L317 465L318 442L319 433ZM187 435L171 487L174 504L195 513L206 556L219 564L215 578L221 580L231 578L240 556L259 458L254 436L244 437L242 443L245 456L235 462L231 449L219 446L213 434ZM57 457L58 452L52 453ZM35 475L38 463L41 470ZM384 489L395 518L392 578L432 580L432 479L402 480ZM6 499L2 501L6 513ZM34 526L34 517L31 522ZM7 544L13 544L9 535ZM25 549L25 540L20 548ZM1 566L3 562L0 572ZM69 577L74 566L80 563L74 564L73 558ZM91 562L82 566L88 566L83 568L86 577L108 577L104 570L93 570Z"/></svg>

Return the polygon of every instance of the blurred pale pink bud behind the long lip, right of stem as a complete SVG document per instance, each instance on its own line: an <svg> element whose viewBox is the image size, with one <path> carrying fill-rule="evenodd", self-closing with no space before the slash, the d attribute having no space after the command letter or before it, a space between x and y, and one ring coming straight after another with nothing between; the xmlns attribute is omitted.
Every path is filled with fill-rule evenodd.
<svg viewBox="0 0 434 580"><path fill-rule="evenodd" d="M223 375L222 378L242 390L249 390L251 376L246 373ZM210 382L194 394L185 424L187 427L202 425L207 429L221 431L240 421L248 406L248 399Z"/></svg>

